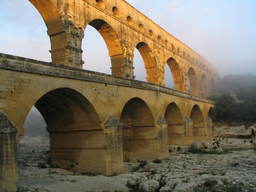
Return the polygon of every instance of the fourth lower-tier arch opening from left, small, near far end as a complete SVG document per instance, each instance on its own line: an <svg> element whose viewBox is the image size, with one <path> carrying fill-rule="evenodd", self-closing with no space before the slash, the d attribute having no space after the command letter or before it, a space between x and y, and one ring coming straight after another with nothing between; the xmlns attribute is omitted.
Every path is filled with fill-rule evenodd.
<svg viewBox="0 0 256 192"><path fill-rule="evenodd" d="M204 129L204 117L203 113L198 105L192 108L190 118L193 121L193 135L194 136L205 136L206 132Z"/></svg>

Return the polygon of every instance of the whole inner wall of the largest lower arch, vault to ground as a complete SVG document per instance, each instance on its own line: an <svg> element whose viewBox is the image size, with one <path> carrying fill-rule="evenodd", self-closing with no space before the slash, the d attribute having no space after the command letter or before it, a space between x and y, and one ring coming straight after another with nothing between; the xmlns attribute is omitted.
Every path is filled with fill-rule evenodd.
<svg viewBox="0 0 256 192"><path fill-rule="evenodd" d="M104 133L97 112L82 94L69 88L55 89L34 106L49 133L49 166L80 173L103 170L103 165L95 167L95 161L104 161ZM97 149L95 139L99 141Z"/></svg>

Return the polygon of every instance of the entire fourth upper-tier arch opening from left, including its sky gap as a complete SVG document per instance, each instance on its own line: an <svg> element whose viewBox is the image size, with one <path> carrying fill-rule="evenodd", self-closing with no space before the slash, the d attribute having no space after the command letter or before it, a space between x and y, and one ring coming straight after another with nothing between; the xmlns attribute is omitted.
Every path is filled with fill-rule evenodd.
<svg viewBox="0 0 256 192"><path fill-rule="evenodd" d="M168 67L167 67L168 66ZM182 75L182 71L180 69L179 64L176 62L175 59L173 58L169 58L167 60L167 66L165 67L165 82L167 85L172 86L172 88L175 88L178 91L184 91L184 78ZM167 69L169 68L169 70ZM168 78L167 74L168 71L171 72L171 80L170 77ZM168 79L170 81L170 83L168 82ZM167 86L167 87L170 87Z"/></svg>

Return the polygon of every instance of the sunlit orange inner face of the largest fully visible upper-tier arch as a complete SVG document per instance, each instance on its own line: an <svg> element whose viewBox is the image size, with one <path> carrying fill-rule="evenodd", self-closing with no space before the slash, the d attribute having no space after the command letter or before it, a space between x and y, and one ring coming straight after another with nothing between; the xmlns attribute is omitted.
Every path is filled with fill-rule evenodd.
<svg viewBox="0 0 256 192"><path fill-rule="evenodd" d="M93 19L87 25L94 27L104 39L111 59L112 75L126 77L126 72L123 70L123 65L125 64L124 48L118 32L103 19Z"/></svg>

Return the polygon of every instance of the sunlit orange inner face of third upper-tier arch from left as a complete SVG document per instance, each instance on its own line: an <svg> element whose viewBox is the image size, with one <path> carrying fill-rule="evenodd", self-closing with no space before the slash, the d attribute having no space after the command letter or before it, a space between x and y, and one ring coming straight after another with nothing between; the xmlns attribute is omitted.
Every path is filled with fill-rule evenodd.
<svg viewBox="0 0 256 192"><path fill-rule="evenodd" d="M152 49L145 42L140 42L136 45L136 48L139 50L140 55L143 58L146 73L147 73L147 81L150 83L159 82L159 74L157 69L157 60L154 56Z"/></svg>

